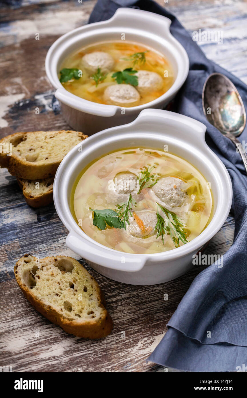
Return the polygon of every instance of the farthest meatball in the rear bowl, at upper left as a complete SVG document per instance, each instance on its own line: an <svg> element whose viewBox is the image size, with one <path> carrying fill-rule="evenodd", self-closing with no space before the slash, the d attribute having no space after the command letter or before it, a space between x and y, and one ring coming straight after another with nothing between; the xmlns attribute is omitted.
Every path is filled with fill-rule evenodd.
<svg viewBox="0 0 247 398"><path fill-rule="evenodd" d="M98 68L100 68L100 72L108 73L113 69L114 63L112 56L103 51L94 51L84 55L81 59L82 66L90 75L96 73Z"/></svg>

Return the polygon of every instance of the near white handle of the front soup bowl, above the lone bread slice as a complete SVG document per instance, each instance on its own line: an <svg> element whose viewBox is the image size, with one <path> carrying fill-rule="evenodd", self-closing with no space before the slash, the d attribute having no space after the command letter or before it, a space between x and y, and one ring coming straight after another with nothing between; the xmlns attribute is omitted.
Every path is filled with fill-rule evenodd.
<svg viewBox="0 0 247 398"><path fill-rule="evenodd" d="M138 254L116 252L104 248L104 246L97 247L95 243L91 243L85 239L82 240L81 236L74 230L69 232L66 238L66 245L73 252L92 263L119 271L140 271L147 261L144 255L138 256Z"/></svg>

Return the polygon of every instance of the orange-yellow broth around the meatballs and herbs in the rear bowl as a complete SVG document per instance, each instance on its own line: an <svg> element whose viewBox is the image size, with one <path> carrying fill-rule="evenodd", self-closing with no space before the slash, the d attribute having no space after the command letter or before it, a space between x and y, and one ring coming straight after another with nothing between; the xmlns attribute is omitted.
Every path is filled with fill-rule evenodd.
<svg viewBox="0 0 247 398"><path fill-rule="evenodd" d="M115 60L114 69L107 74L106 79L102 83L99 83L97 87L93 78L87 73L85 68L81 66L81 58L85 54L92 53L93 51L104 51L109 53ZM138 62L137 64L133 65L132 61L123 59L133 55L134 53L141 53L144 51L147 51L147 53L145 53L145 64ZM66 57L61 64L60 70L62 68L78 68L82 70L82 77L79 80L72 80L63 83L64 88L66 88L66 90L72 94L84 98L85 100L106 104L103 98L104 90L109 85L117 84L115 79L112 78L112 74L114 72L122 71L125 68L131 67L133 67L135 70L149 70L151 72L156 72L162 77L163 80L163 87L161 90L152 91L145 95L140 94L141 98L137 105L142 105L162 96L166 91L169 90L174 82L174 72L172 70L172 66L162 54L149 47L145 47L142 44L125 41L102 42L83 47L82 49L79 49L76 52L68 55L68 57ZM164 77L164 75L166 77ZM131 107L131 105L129 106Z"/></svg>

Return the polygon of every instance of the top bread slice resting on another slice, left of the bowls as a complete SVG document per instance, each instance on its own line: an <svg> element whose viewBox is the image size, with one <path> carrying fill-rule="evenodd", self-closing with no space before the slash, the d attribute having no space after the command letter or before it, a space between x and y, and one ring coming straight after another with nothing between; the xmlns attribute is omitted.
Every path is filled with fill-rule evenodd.
<svg viewBox="0 0 247 398"><path fill-rule="evenodd" d="M12 176L23 179L44 179L55 176L64 156L87 135L79 131L31 131L15 133L0 140L0 149L12 144L12 154L0 150L0 167ZM9 145L8 145L9 148Z"/></svg>

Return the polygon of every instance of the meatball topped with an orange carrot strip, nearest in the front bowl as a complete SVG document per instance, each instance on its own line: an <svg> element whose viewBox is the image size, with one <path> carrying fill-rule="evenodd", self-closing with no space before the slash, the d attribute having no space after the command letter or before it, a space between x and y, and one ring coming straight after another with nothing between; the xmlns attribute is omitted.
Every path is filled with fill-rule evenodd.
<svg viewBox="0 0 247 398"><path fill-rule="evenodd" d="M135 238L149 238L156 234L157 216L154 211L133 212L133 217L129 218L129 222L130 224L126 227L127 233Z"/></svg>

